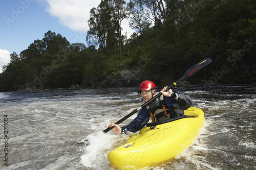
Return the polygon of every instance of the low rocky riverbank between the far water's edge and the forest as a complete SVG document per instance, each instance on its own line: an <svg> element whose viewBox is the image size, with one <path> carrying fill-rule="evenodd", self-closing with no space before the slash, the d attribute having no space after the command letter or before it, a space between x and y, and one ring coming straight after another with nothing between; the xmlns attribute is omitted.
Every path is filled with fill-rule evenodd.
<svg viewBox="0 0 256 170"><path fill-rule="evenodd" d="M148 69L148 70L129 70L124 69L120 71L112 72L107 74L106 71L100 72L100 74L94 75L89 78L88 83L82 85L72 85L69 88L56 88L56 89L44 89L44 88L25 88L19 89L17 91L38 91L38 90L76 90L76 89L86 89L86 88L122 88L122 87L138 87L140 83L144 80L153 81L157 87L161 88L164 86L169 86L177 81L177 76L174 78L174 75L170 74L172 70L162 69ZM214 77L215 78L215 77ZM217 78L215 78L217 79ZM214 80L215 80L214 79ZM195 82L197 82L195 84ZM198 75L195 75L195 78L189 78L186 81L179 83L179 86L188 86L188 85L203 85L205 88L212 88L218 82L213 81L213 77L208 81L203 79ZM223 85L223 84L222 84ZM256 86L256 83L251 84L226 84L227 86ZM225 86L225 84L224 84Z"/></svg>

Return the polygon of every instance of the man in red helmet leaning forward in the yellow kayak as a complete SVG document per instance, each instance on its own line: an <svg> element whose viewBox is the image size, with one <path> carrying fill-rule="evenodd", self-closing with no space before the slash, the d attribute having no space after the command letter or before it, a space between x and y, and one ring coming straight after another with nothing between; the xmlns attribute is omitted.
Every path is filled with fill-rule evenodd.
<svg viewBox="0 0 256 170"><path fill-rule="evenodd" d="M188 109L192 104L192 100L189 95L180 92L174 92L172 89L165 91L164 87L160 93L162 95L155 101L142 108L137 117L124 127L112 123L109 128L116 134L130 132L137 132L142 129L150 120L157 122L160 120L174 118L184 115L184 110ZM156 95L156 85L149 80L145 80L140 84L138 93L141 94L144 102L151 100Z"/></svg>

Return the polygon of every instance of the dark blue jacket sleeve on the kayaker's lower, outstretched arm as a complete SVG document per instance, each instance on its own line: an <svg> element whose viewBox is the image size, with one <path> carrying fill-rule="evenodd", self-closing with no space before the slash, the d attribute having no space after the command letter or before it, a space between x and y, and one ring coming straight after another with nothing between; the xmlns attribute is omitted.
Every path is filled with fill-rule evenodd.
<svg viewBox="0 0 256 170"><path fill-rule="evenodd" d="M137 132L147 124L148 120L150 120L150 115L147 113L146 108L143 108L139 111L137 117L129 125L122 127L122 129Z"/></svg>

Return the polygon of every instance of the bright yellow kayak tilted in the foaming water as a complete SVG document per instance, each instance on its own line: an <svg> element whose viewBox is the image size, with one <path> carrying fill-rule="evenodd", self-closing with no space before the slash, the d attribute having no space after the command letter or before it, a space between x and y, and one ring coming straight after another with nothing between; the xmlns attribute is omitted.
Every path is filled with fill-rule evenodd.
<svg viewBox="0 0 256 170"><path fill-rule="evenodd" d="M190 107L185 115L190 117L142 128L139 134L108 154L110 163L118 169L141 169L174 159L194 142L204 126L201 109Z"/></svg>

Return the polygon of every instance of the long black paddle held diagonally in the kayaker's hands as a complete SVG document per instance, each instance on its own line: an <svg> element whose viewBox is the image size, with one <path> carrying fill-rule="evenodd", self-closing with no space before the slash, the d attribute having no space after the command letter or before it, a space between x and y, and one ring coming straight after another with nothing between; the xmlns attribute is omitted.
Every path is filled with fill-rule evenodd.
<svg viewBox="0 0 256 170"><path fill-rule="evenodd" d="M174 82L173 84L169 85L165 91L168 91L169 89L173 88L174 86L176 86L177 84L179 84L180 82L188 79L189 77L191 77L192 75L194 75L197 71L199 71L200 69L202 69L204 66L208 65L211 62L210 58L204 59L202 61L200 61L199 63L193 65L192 67L190 67L185 74L178 79L176 82ZM126 116L124 116L123 118L121 118L120 120L118 120L115 124L119 125L120 123L122 123L124 120L126 120L127 118L129 118L130 116L132 116L134 113L136 113L137 111L141 110L142 108L144 108L146 105L150 104L151 102L153 102L154 100L156 100L157 98L159 98L159 96L162 93L158 93L156 96L154 96L154 98L152 98L151 100L145 102L143 105L141 105L140 107L138 107L137 109L135 109L134 111L132 111L131 113L127 114ZM103 132L109 132L112 128L106 128Z"/></svg>

